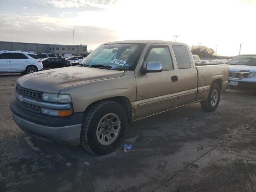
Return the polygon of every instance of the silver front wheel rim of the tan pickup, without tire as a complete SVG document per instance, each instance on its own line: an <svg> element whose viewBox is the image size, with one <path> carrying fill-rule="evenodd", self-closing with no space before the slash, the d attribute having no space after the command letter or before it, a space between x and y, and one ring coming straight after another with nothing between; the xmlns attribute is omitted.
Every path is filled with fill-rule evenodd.
<svg viewBox="0 0 256 192"><path fill-rule="evenodd" d="M120 120L116 114L109 113L103 116L98 124L96 135L102 145L112 144L120 132Z"/></svg>

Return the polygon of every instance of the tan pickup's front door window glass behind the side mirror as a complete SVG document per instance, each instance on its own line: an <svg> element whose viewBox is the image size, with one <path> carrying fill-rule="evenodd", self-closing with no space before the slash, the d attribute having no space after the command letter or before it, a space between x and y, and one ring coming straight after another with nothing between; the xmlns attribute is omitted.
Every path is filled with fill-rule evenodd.
<svg viewBox="0 0 256 192"><path fill-rule="evenodd" d="M146 59L146 63L150 61L160 62L163 70L173 69L172 58L168 47L152 48Z"/></svg>

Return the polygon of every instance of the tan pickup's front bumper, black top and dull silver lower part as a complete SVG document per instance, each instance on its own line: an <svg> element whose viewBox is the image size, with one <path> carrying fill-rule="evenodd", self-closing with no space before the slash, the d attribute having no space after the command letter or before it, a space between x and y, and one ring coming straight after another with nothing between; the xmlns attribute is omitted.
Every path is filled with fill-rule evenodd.
<svg viewBox="0 0 256 192"><path fill-rule="evenodd" d="M36 114L22 108L16 100L10 104L16 124L26 133L42 140L64 145L80 143L83 113L68 117L54 117Z"/></svg>

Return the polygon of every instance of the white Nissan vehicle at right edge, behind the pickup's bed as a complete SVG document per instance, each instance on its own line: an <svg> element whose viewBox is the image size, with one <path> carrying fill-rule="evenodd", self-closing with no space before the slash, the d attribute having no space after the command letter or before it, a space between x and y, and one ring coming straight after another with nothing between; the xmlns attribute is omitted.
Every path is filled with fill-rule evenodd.
<svg viewBox="0 0 256 192"><path fill-rule="evenodd" d="M228 89L249 90L256 96L256 54L238 55L228 68Z"/></svg>

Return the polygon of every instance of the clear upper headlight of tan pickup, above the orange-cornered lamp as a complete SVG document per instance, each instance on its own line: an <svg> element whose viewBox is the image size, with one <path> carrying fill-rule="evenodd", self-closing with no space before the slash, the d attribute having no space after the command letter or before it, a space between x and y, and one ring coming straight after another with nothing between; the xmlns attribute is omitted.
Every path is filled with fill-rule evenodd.
<svg viewBox="0 0 256 192"><path fill-rule="evenodd" d="M42 100L55 103L71 103L72 99L69 94L53 94L53 93L43 93Z"/></svg>

